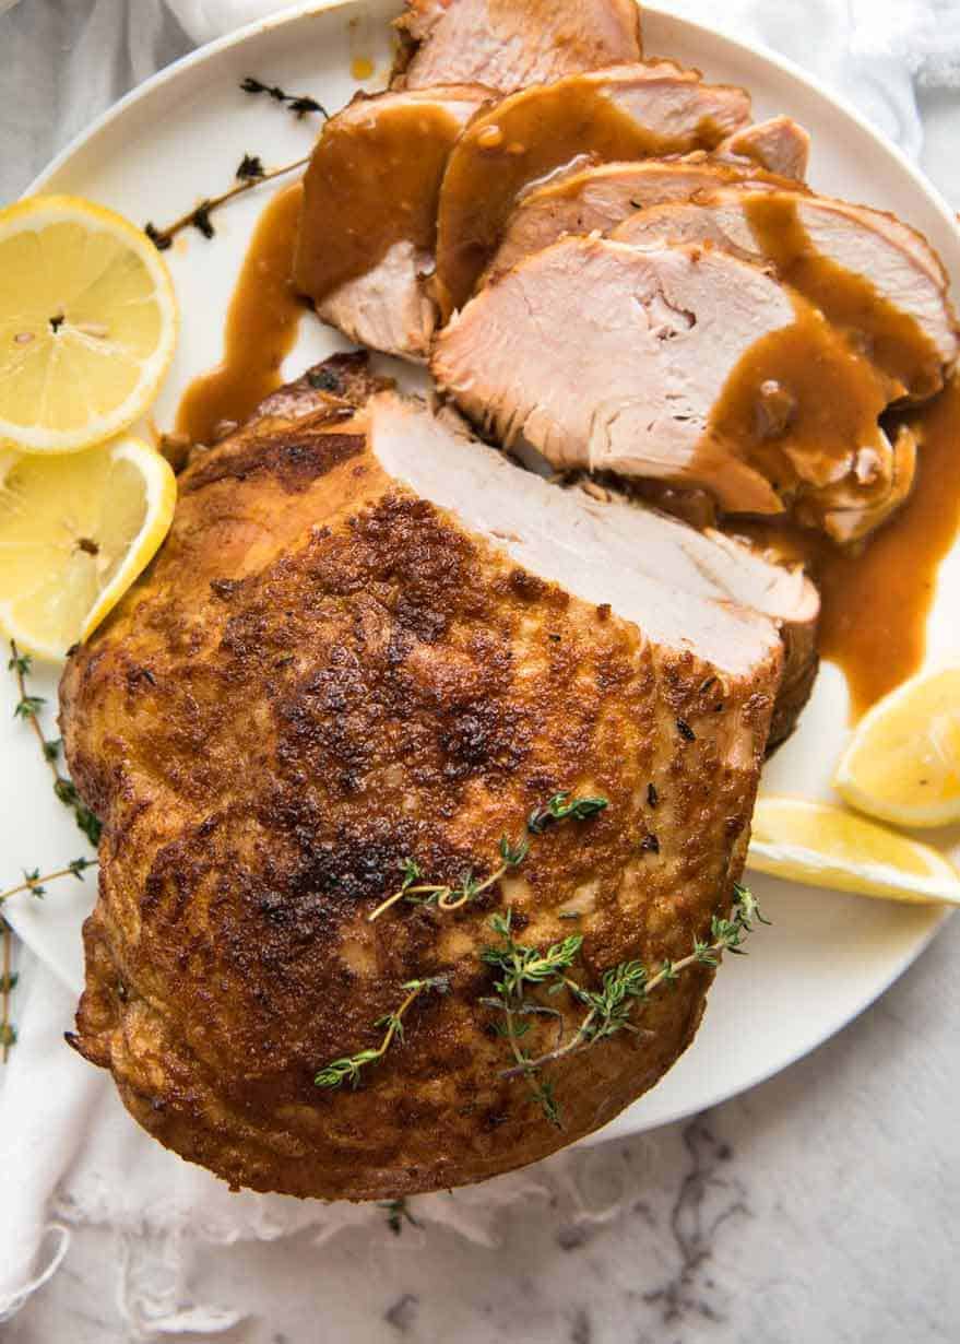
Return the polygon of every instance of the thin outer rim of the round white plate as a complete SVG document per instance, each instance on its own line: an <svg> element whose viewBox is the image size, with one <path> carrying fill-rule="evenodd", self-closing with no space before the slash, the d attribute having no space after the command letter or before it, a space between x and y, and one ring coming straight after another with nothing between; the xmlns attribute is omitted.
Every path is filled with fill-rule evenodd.
<svg viewBox="0 0 960 1344"><path fill-rule="evenodd" d="M213 59L223 51L228 51L235 47L240 47L244 43L263 35L265 32L271 32L283 28L290 24L297 24L305 19L316 17L321 13L326 13L336 9L350 9L363 8L367 0L301 0L301 3L287 5L271 15L262 19L255 19L251 23L243 24L242 27L234 30L232 32L224 34L223 36L204 43L196 47L193 51L177 58L171 65L165 66L162 70L156 71L149 79L130 89L124 94L117 102L111 103L105 109L98 117L95 117L87 126L79 130L51 160L50 163L36 175L36 177L24 188L20 199L26 196L38 195L43 191L44 184L51 180L77 153L79 153L90 141L95 140L97 136L107 126L119 121L126 112L142 102L144 99L152 97L164 85L177 81L184 71L193 69L195 66L201 66L205 62ZM639 0L638 0L639 3ZM761 65L772 69L775 75L783 75L788 81L795 81L804 86L820 99L823 99L841 118L851 121L869 140L889 159L893 159L898 168L906 175L913 187L920 195L922 195L926 202L934 208L937 215L941 218L943 223L947 224L948 231L952 234L953 241L960 249L960 220L957 215L951 208L949 203L936 187L936 184L926 176L922 168L910 159L894 141L885 136L877 129L867 118L854 108L842 94L835 93L816 75L803 69L796 62L791 60L788 56L781 55L772 48L756 43L751 39L737 36L726 31L724 27L709 27L705 23L698 23L685 15L675 13L671 9L662 8L657 4L643 4L643 13L657 16L667 24L673 24L677 28L685 30L685 32L695 40L697 36L702 35L710 43L720 44L730 51L732 55L747 54L751 59L760 62ZM785 1059L780 1059L773 1064L763 1066L757 1068L748 1077L748 1081L740 1083L736 1090L728 1091L725 1087L714 1087L706 1097L697 1105L695 1109L690 1106L678 1106L673 1111L667 1111L666 1116L659 1116L651 1124L644 1124L642 1114L638 1114L632 1124L627 1122L631 1109L636 1106L634 1102L619 1116L614 1117L603 1129L585 1136L573 1146L588 1146L597 1142L607 1142L610 1140L626 1138L631 1134L644 1133L657 1129L662 1125L675 1124L677 1121L685 1120L693 1114L700 1114L709 1110L713 1106L721 1105L722 1102L732 1101L733 1098L742 1095L744 1093L752 1090L760 1083L768 1082L775 1078L779 1073L789 1068L791 1066L799 1063L799 1060L812 1055L828 1040L842 1032L846 1027L854 1023L863 1012L866 1012L873 1004L881 999L887 989L902 974L909 970L909 968L922 957L922 954L929 949L937 934L945 927L951 915L955 911L951 907L944 907L940 918L930 923L930 926L920 935L916 942L912 943L909 950L900 956L893 968L889 969L875 985L871 985L869 996L861 1003L847 1016L843 1016L842 1021L831 1027L827 1032L818 1036L812 1043L802 1044L796 1050L791 1051ZM16 919L9 918L11 925L16 926ZM19 934L23 937L21 934ZM24 938L27 946L32 945L32 938L30 933ZM35 954L40 956L36 949L32 949ZM46 960L46 958L42 958ZM48 965L48 969L58 974L58 972ZM59 974L58 974L59 978ZM73 986L71 986L73 988ZM638 1098L643 1101L643 1098ZM611 1130L616 1129L616 1133Z"/></svg>

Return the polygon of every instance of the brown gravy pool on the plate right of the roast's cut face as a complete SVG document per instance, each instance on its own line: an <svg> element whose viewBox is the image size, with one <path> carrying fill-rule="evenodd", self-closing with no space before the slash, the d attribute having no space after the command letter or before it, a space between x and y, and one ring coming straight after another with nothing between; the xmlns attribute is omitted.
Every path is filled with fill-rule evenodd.
<svg viewBox="0 0 960 1344"><path fill-rule="evenodd" d="M855 715L920 668L937 570L960 530L960 379L906 419L920 438L913 492L861 554L789 524L728 526L806 562L823 598L820 653L843 669Z"/></svg>

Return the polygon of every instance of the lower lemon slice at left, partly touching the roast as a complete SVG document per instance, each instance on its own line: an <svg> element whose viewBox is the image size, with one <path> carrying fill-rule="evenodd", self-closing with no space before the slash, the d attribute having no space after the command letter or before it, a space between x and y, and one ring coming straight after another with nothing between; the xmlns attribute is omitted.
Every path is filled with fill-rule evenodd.
<svg viewBox="0 0 960 1344"><path fill-rule="evenodd" d="M60 659L119 601L173 517L168 462L129 435L59 457L0 449L0 625Z"/></svg>

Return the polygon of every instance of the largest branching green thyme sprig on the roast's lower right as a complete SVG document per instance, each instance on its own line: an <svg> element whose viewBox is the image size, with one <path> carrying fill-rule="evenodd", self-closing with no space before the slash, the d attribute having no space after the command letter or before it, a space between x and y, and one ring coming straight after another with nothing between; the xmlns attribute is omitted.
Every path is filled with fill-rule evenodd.
<svg viewBox="0 0 960 1344"><path fill-rule="evenodd" d="M686 957L679 961L662 961L653 974L640 961L622 961L604 972L599 989L588 989L565 973L583 945L580 935L575 934L561 943L553 943L545 952L538 952L514 939L512 911L508 911L506 917L494 915L490 925L494 933L499 934L501 942L498 946L486 948L481 953L481 960L499 970L501 978L494 984L497 997L481 1001L495 1008L503 1017L497 1030L506 1038L514 1063L505 1068L501 1077L524 1078L546 1118L557 1128L563 1128L553 1087L540 1077L540 1070L567 1055L588 1050L620 1031L640 1035L640 1028L630 1020L634 1005L662 985L675 984L689 966L716 966L724 952L742 956L741 945L752 931L755 921L769 923L764 919L753 894L734 883L729 915L714 915L710 922L710 937L694 938L693 950ZM526 997L526 986L545 988L549 995L567 989L587 1008L579 1027L567 1040L563 1039L563 1016L556 1013L556 1009L548 1009L560 1017L561 1036L553 1050L537 1056L526 1054L521 1046L521 1038L529 1031L529 1023L517 1020L544 1011L542 1005Z"/></svg>

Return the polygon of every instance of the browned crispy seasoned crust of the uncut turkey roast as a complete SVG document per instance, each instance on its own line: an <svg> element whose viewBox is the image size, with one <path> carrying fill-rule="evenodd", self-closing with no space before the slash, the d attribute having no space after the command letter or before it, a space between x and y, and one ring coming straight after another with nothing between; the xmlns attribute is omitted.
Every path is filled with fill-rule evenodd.
<svg viewBox="0 0 960 1344"><path fill-rule="evenodd" d="M203 454L166 544L62 683L67 761L105 824L77 1048L232 1187L328 1199L533 1161L670 1067L705 968L651 996L644 1035L550 1066L557 1130L502 1077L478 953L510 905L525 942L583 933L591 985L683 956L740 875L780 672L772 655L724 685L518 570L388 477L364 430L363 410L322 405ZM610 806L534 839L455 914L367 921L401 859L431 880L487 874L560 789ZM405 981L439 973L450 992L412 1005L357 1090L314 1086L379 1043ZM583 1009L552 1003L571 1030Z"/></svg>

